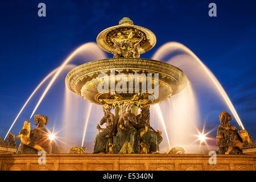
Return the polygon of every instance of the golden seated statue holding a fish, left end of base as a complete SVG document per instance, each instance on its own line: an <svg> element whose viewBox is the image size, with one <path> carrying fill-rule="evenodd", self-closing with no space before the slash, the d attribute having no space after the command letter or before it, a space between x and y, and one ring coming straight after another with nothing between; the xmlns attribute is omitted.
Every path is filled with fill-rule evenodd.
<svg viewBox="0 0 256 182"><path fill-rule="evenodd" d="M49 151L48 132L44 126L48 123L48 117L36 114L35 129L30 130L30 122L25 121L16 138L19 138L21 143L17 154L38 154L39 151Z"/></svg>

